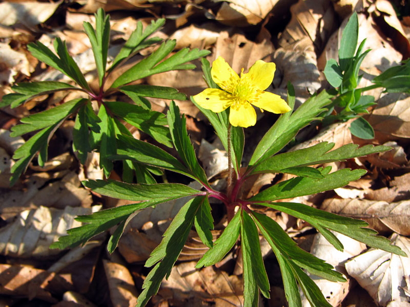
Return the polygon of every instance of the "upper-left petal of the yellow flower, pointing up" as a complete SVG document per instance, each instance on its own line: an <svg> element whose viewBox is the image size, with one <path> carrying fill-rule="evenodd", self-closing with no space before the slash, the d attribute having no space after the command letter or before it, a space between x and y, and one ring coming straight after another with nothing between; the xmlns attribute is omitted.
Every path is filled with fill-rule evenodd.
<svg viewBox="0 0 410 307"><path fill-rule="evenodd" d="M236 84L239 82L238 74L220 56L212 63L211 76L221 89L229 93L233 93Z"/></svg>

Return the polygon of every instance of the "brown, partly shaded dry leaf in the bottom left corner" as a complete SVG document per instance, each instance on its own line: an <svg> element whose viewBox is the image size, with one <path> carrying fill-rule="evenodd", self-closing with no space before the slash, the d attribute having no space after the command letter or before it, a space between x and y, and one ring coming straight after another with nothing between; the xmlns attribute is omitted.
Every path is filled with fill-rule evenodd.
<svg viewBox="0 0 410 307"><path fill-rule="evenodd" d="M1 295L38 298L50 303L58 301L52 294L61 296L74 290L60 275L25 265L0 264L0 284Z"/></svg>

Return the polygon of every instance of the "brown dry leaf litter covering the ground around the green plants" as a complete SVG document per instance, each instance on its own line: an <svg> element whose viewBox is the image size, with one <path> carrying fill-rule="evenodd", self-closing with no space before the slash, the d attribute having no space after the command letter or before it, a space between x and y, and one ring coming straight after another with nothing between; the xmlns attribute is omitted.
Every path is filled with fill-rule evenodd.
<svg viewBox="0 0 410 307"><path fill-rule="evenodd" d="M381 71L408 58L410 52L408 18L404 16L405 18L399 20L391 3L384 0L299 0L285 4L264 0L253 3L232 0L188 4L175 1L167 1L165 4L148 1L138 4L103 4L88 1L81 7L83 4L84 2L79 1L76 2L78 6L36 1L0 4L6 8L0 10L0 80L5 85L3 94L7 93L7 86L16 81L64 80L61 79L62 75L53 69L37 67L37 62L27 53L26 45L29 40L34 40L33 35L37 35L46 45L56 36L65 39L69 52L76 55L78 65L88 72L87 80L95 81L94 59L89 42L84 39L81 30L83 21L92 24L95 22L94 16L89 13L94 13L101 6L107 11L116 11L111 19L113 49L109 54L115 54L115 50L129 37L137 20L147 24L155 16L168 16L166 27L160 32L161 37L175 38L178 48L198 47L211 50L210 61L221 55L237 72L242 67L247 71L257 59L273 61L277 65L277 71L270 91L283 96L287 82L291 81L295 85L300 104L324 86L324 63L331 57L337 58L341 31L352 8L360 12L359 41L366 38L365 48L372 49L361 65L364 73L362 86L370 84L368 80ZM13 13L7 13L10 10L13 10ZM137 10L138 14L131 13L131 10ZM65 18L61 19L63 11ZM146 18L147 16L150 17ZM56 27L58 18L60 21ZM338 23L338 18L342 21L341 24ZM44 31L45 29L47 31ZM141 51L141 54L144 54L144 51ZM138 56L136 59L138 60ZM194 95L206 87L199 64L197 66L194 71L163 73L142 81L152 85L174 86L187 95ZM359 217L381 233L393 233L395 243L408 253L408 239L405 236L410 233L410 120L407 112L410 100L408 95L386 94L378 90L366 94L375 95L377 99L377 105L369 109L370 114L365 116L375 128L374 140L364 142L352 138L348 129L350 122L334 124L325 129L321 129L318 124L303 130L298 135L300 144L288 149L305 148L320 141L334 142L335 148L338 148L353 141L360 145L385 144L393 146L394 150L360 159L333 162L333 170L341 167L365 168L368 174L360 181L338 189L336 193L320 193L309 198L288 201L302 202L338 214ZM81 301L88 300L89 305L131 306L147 274L142 262L160 242L180 204L170 202L138 213L119 242L116 253L120 256L117 258L101 252L105 235L96 237L96 240L83 248L63 253L50 250L48 246L55 242L58 236L79 225L74 221L75 216L99 210L101 207L126 204L106 197L101 198L101 195L80 185L81 180L102 179L103 171L98 167L98 153L91 154L86 165L81 166L68 150L67 144L72 140L70 131L73 127L69 124L59 128L59 138L54 140L53 152L44 167L31 164L26 177L15 187L9 188L7 185L10 167L14 163L10 157L14 150L24 143L24 139L8 137L10 127L6 124L6 115L17 119L22 114L38 112L38 107L44 107L45 103L54 104L61 99L67 97L64 94L39 97L19 107L17 111L4 109L0 114L0 123L3 124L0 126L0 251L4 260L4 264L0 265L0 275L5 278L1 281L4 286L1 294L20 303L38 299L64 306L66 303L69 305L69 302L84 304ZM164 112L168 108L165 100L152 99L151 102L157 111ZM206 130L198 133L195 139L200 160L202 165L209 165L207 175L215 178L215 184L223 186L226 180L226 153L220 150L217 144L210 145L213 144L215 136L207 128L207 120L198 116L198 110L193 104L190 101L177 103L182 113L190 120L198 122L198 127ZM267 122L267 127L275 120L274 115L266 113L259 113L258 117L261 123ZM263 127L263 124L261 126ZM192 127L195 129L194 125ZM264 133L262 130L250 128L246 131L247 138L250 139L247 144L252 144L253 138L260 138ZM138 138L146 138L144 134L137 135ZM247 151L252 152L252 148L245 149L245 153ZM247 159L249 158L245 155L244 163ZM278 174L256 178L247 187L248 193L251 196L272 181L289 178ZM226 225L224 212L217 210L217 204L212 206L218 215L214 218L217 218L219 225ZM309 242L302 242L298 237L308 237L310 227L301 224L296 218L289 218L285 213L277 214L271 209L268 211L265 213L275 216L281 227L291 233L301 246L305 244L303 242ZM214 240L218 235L219 230L215 230ZM306 249L311 249L312 253L336 266L348 280L337 285L328 282L320 286L323 287L324 293L332 293L329 295L329 301L333 306L345 306L347 302L360 306L360 296L354 299L355 288L351 290L353 278L380 305L392 306L394 303L409 301L410 281L406 269L410 265L405 262L408 258L370 249L348 260L366 248L356 246L354 242L346 242L344 245L348 252L341 255L321 242L320 238L316 238L312 248L308 243ZM197 234L191 231L180 255L180 262L173 268L169 279L163 282L158 295L153 299L154 305L239 306L243 303L241 253L235 248L217 268L195 269L195 261L190 260L198 259L207 251L207 248L199 243ZM269 252L264 252L263 256L266 261L272 260L268 275L274 278L272 276L278 271L278 265ZM98 262L102 265L97 265ZM344 264L347 271L344 270ZM84 267L87 267L87 270L84 270ZM364 276L363 272L370 275ZM79 283L81 278L78 276L86 276L84 283ZM101 276L104 277L100 278ZM372 281L368 282L369 280ZM93 296L96 289L107 291ZM272 289L277 290L277 297L280 298L283 285L279 282ZM272 302L273 300L270 305Z"/></svg>

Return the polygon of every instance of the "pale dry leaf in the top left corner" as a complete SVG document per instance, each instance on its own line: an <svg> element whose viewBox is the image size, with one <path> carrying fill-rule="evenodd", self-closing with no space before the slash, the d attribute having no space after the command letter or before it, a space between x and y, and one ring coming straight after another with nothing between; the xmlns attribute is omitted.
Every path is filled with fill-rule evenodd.
<svg viewBox="0 0 410 307"><path fill-rule="evenodd" d="M4 2L0 4L0 23L5 26L23 24L28 28L44 23L61 4L41 2Z"/></svg>

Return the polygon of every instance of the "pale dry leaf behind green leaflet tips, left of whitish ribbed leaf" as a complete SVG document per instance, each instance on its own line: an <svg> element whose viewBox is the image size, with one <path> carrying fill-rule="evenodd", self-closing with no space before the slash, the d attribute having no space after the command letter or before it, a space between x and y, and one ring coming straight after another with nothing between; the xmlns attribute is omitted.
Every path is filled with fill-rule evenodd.
<svg viewBox="0 0 410 307"><path fill-rule="evenodd" d="M313 281L317 284L326 300L332 306L336 307L339 306L342 300L346 297L348 290L352 286L352 280L346 276L346 271L343 264L347 259L350 259L364 251L366 249L366 245L338 232L332 231L332 233L336 235L336 237L343 244L344 250L342 252L336 250L335 247L330 244L322 234L318 233L314 238L311 254L334 266L336 271L342 273L347 281L333 282L315 275L311 275L310 273L307 274L310 275ZM303 292L301 290L299 290L299 292L302 297L302 306L310 307L311 305L308 299L304 296Z"/></svg>

